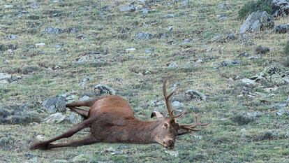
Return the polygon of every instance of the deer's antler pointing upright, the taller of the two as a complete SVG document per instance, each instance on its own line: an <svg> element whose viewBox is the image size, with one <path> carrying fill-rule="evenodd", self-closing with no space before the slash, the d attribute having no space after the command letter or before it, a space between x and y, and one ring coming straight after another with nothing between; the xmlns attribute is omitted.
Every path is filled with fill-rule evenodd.
<svg viewBox="0 0 289 163"><path fill-rule="evenodd" d="M179 116L184 114L184 111L179 113L178 115L174 115L174 111L172 111L172 106L170 105L170 97L172 97L172 94L175 93L175 90L173 90L170 94L168 94L167 92L167 88L166 88L166 83L167 83L167 78L163 78L163 96L165 97L165 105L168 108L168 114L170 116L170 118L175 119L178 118Z"/></svg>

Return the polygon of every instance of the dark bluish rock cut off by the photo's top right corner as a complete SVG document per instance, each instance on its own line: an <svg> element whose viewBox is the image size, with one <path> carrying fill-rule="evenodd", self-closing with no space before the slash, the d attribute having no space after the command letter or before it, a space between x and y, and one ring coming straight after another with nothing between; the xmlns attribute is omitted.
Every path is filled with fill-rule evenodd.
<svg viewBox="0 0 289 163"><path fill-rule="evenodd" d="M271 3L274 17L288 15L289 13L288 0L272 0Z"/></svg>

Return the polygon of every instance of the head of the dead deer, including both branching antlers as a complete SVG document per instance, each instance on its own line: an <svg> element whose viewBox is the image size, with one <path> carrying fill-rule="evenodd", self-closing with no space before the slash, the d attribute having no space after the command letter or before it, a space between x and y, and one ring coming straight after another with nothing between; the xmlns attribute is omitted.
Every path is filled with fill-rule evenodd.
<svg viewBox="0 0 289 163"><path fill-rule="evenodd" d="M175 139L177 136L181 134L187 134L192 131L199 132L201 129L195 129L198 126L206 126L209 123L200 123L200 118L198 114L195 114L195 122L192 124L184 125L176 122L176 118L184 115L184 111L174 115L174 111L172 110L172 106L170 104L170 97L175 94L175 90L168 94L166 90L167 78L163 79L163 96L165 97L165 105L168 109L168 116L164 117L160 112L154 111L151 113L151 118L158 118L158 126L154 129L155 140L160 143L165 148L172 149L175 146Z"/></svg>

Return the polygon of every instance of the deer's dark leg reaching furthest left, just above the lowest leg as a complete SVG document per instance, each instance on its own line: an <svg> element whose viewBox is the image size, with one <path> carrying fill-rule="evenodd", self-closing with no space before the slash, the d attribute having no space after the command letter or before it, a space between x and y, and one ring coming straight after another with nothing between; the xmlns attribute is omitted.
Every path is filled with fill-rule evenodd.
<svg viewBox="0 0 289 163"><path fill-rule="evenodd" d="M51 146L50 143L52 143L53 141L57 141L59 139L73 136L73 134L79 132L80 130L89 127L91 123L94 122L94 120L95 118L89 118L87 120L84 120L80 122L79 124L75 125L73 128L69 129L67 132L64 132L64 134L61 134L60 136L57 136L53 139L49 139L47 141L40 141L38 143L34 143L32 146L30 146L30 149L31 150L36 150L36 149L48 150L50 149L49 146Z"/></svg>

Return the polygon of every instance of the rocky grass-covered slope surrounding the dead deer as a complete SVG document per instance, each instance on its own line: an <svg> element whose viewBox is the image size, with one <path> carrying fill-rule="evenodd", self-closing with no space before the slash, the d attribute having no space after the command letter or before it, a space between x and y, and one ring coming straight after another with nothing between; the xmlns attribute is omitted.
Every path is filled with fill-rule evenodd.
<svg viewBox="0 0 289 163"><path fill-rule="evenodd" d="M288 36L239 36L244 20L237 10L246 1L135 1L133 12L121 11L131 1L0 3L0 73L12 76L0 84L1 118L21 112L1 121L0 162L289 161L289 89L278 76L288 75L280 64ZM286 24L288 17L275 23ZM258 55L258 45L270 51ZM265 80L241 81L262 72ZM72 126L35 123L49 115L40 108L48 97L77 99L101 83L126 98L138 118L148 119L154 109L165 112L165 106L151 105L163 100L163 76L171 76L171 87L179 83L176 98L187 110L181 122L192 122L195 111L211 122L202 132L179 137L173 150L123 143L27 149L37 135L51 138ZM184 100L190 89L207 100Z"/></svg>

